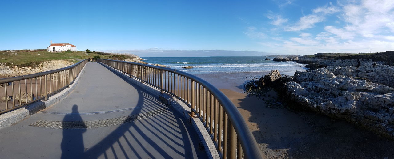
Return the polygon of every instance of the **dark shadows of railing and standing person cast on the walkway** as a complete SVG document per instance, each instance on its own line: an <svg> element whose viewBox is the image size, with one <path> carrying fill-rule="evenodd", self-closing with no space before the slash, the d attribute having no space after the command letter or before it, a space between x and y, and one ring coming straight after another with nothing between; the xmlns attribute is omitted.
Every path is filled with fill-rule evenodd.
<svg viewBox="0 0 394 159"><path fill-rule="evenodd" d="M106 66L104 67L107 68ZM139 87L126 80L126 77L115 73L115 70L107 69L125 80L131 86ZM156 104L157 98L145 92L142 88L137 90L137 105ZM72 120L75 120L78 116L80 118L80 115L77 113L78 106L74 105L74 107L73 112L76 114L66 115L64 121L70 120L69 117L71 116L73 118ZM155 106L143 108L155 110ZM133 109L130 115L141 113L141 110L141 107ZM82 118L80 119L82 121ZM169 111L162 115L144 119L143 121L121 124L115 128L115 130L108 133L104 139L98 141L93 146L89 146L89 148L84 148L83 143L82 134L86 129L65 129L63 130L63 140L61 143L63 151L62 158L173 158L174 155L182 158L206 158L206 156L199 156L198 154L193 154L193 151L190 151L192 149L198 150L199 148L198 145L193 145L191 143L191 139L189 139L188 136L188 130L184 125L185 123L180 116L172 114L172 112ZM182 137L177 137L174 132L181 133ZM198 139L197 136L196 138ZM160 142L164 143L164 145L158 144ZM138 143L138 145L132 143ZM169 152L168 148L164 149L165 146L171 148L172 152ZM182 148L184 149L183 152L180 151ZM117 152L116 150L121 150L121 152Z"/></svg>

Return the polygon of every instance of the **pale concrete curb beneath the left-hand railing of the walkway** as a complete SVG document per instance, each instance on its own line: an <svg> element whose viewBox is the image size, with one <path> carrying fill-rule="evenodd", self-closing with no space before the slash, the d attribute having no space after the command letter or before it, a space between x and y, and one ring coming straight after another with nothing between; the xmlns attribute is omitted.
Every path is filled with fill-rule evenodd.
<svg viewBox="0 0 394 159"><path fill-rule="evenodd" d="M86 66L86 64L85 64ZM84 68L85 68L84 66ZM48 97L48 101L37 101L32 104L29 104L23 108L10 111L8 113L4 113L0 115L0 128L4 128L6 126L12 125L14 123L20 122L30 115L33 115L40 110L48 108L49 106L55 104L56 102L60 101L64 97L66 97L72 90L74 90L75 86L78 84L80 79L80 75L82 75L84 68L82 68L81 72L78 74L75 81L71 84L70 88L65 88L64 90L60 91L59 93Z"/></svg>

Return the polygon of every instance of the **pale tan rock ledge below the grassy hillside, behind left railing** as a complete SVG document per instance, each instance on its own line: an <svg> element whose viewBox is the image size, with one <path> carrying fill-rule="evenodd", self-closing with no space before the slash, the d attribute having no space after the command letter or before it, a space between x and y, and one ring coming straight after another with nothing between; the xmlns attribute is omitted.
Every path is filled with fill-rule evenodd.
<svg viewBox="0 0 394 159"><path fill-rule="evenodd" d="M0 76L13 77L21 75L29 75L33 73L39 73L44 71L50 71L53 69L64 68L74 64L67 60L51 60L45 61L39 64L39 67L17 67L17 66L6 66L5 64L0 64Z"/></svg>

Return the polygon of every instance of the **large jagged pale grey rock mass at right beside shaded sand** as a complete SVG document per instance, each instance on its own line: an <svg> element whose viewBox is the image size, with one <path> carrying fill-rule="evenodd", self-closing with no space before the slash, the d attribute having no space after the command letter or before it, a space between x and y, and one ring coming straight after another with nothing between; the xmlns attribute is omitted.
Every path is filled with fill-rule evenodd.
<svg viewBox="0 0 394 159"><path fill-rule="evenodd" d="M363 71L371 66L366 64ZM283 84L281 95L291 108L346 120L394 140L394 89L354 79L354 70L333 66L296 72L294 81Z"/></svg>

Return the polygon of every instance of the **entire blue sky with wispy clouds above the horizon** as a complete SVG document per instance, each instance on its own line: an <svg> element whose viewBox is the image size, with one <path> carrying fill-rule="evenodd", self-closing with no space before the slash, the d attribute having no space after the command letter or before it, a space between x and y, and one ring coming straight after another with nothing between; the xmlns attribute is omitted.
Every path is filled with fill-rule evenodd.
<svg viewBox="0 0 394 159"><path fill-rule="evenodd" d="M70 43L140 57L394 50L393 0L7 0L0 50Z"/></svg>

